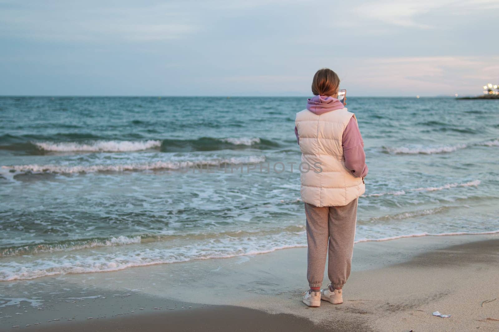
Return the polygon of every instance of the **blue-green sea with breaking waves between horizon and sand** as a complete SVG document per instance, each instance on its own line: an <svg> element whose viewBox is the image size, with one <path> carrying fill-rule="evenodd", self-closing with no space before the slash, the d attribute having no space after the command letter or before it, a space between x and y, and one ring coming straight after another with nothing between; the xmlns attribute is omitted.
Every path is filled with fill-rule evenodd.
<svg viewBox="0 0 499 332"><path fill-rule="evenodd" d="M349 97L356 242L499 232L499 102ZM306 97L0 97L0 281L306 247Z"/></svg>

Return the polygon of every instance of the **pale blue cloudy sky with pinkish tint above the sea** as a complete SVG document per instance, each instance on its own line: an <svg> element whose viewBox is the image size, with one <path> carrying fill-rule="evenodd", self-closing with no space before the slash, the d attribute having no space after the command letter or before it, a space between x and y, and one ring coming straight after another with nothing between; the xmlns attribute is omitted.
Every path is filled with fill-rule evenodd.
<svg viewBox="0 0 499 332"><path fill-rule="evenodd" d="M0 95L480 95L498 0L0 0Z"/></svg>

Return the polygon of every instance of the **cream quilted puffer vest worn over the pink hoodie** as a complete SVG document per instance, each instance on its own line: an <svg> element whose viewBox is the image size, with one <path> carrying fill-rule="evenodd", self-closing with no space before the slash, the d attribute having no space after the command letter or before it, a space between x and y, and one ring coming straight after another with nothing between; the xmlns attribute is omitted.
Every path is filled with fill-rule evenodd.
<svg viewBox="0 0 499 332"><path fill-rule="evenodd" d="M343 206L365 192L362 178L352 175L345 167L342 139L352 116L355 118L346 108L321 115L309 110L296 113L295 126L302 153L300 191L304 202L315 206Z"/></svg>

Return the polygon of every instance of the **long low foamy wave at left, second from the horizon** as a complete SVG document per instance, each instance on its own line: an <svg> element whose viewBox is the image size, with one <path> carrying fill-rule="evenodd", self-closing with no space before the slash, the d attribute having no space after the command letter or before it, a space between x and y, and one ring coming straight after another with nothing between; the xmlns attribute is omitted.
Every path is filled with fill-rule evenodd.
<svg viewBox="0 0 499 332"><path fill-rule="evenodd" d="M208 159L197 161L184 162L153 162L143 164L124 164L124 165L88 165L88 166L61 166L61 165L12 165L1 166L3 169L15 172L32 172L32 173L93 173L93 172L123 172L123 171L141 171L141 170L182 170L193 167L208 167L208 166L226 166L226 165L244 165L263 163L265 157L250 156L250 157L234 157L228 159ZM239 168L238 168L239 169Z"/></svg>

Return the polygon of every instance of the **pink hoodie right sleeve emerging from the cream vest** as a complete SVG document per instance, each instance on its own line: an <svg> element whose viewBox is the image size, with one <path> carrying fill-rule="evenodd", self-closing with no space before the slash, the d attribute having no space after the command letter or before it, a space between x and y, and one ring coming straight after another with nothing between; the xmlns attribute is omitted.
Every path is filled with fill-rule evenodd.
<svg viewBox="0 0 499 332"><path fill-rule="evenodd" d="M352 171L357 177L367 175L366 154L364 152L364 141L360 135L357 120L350 119L343 132L343 154L345 155L345 167Z"/></svg>

